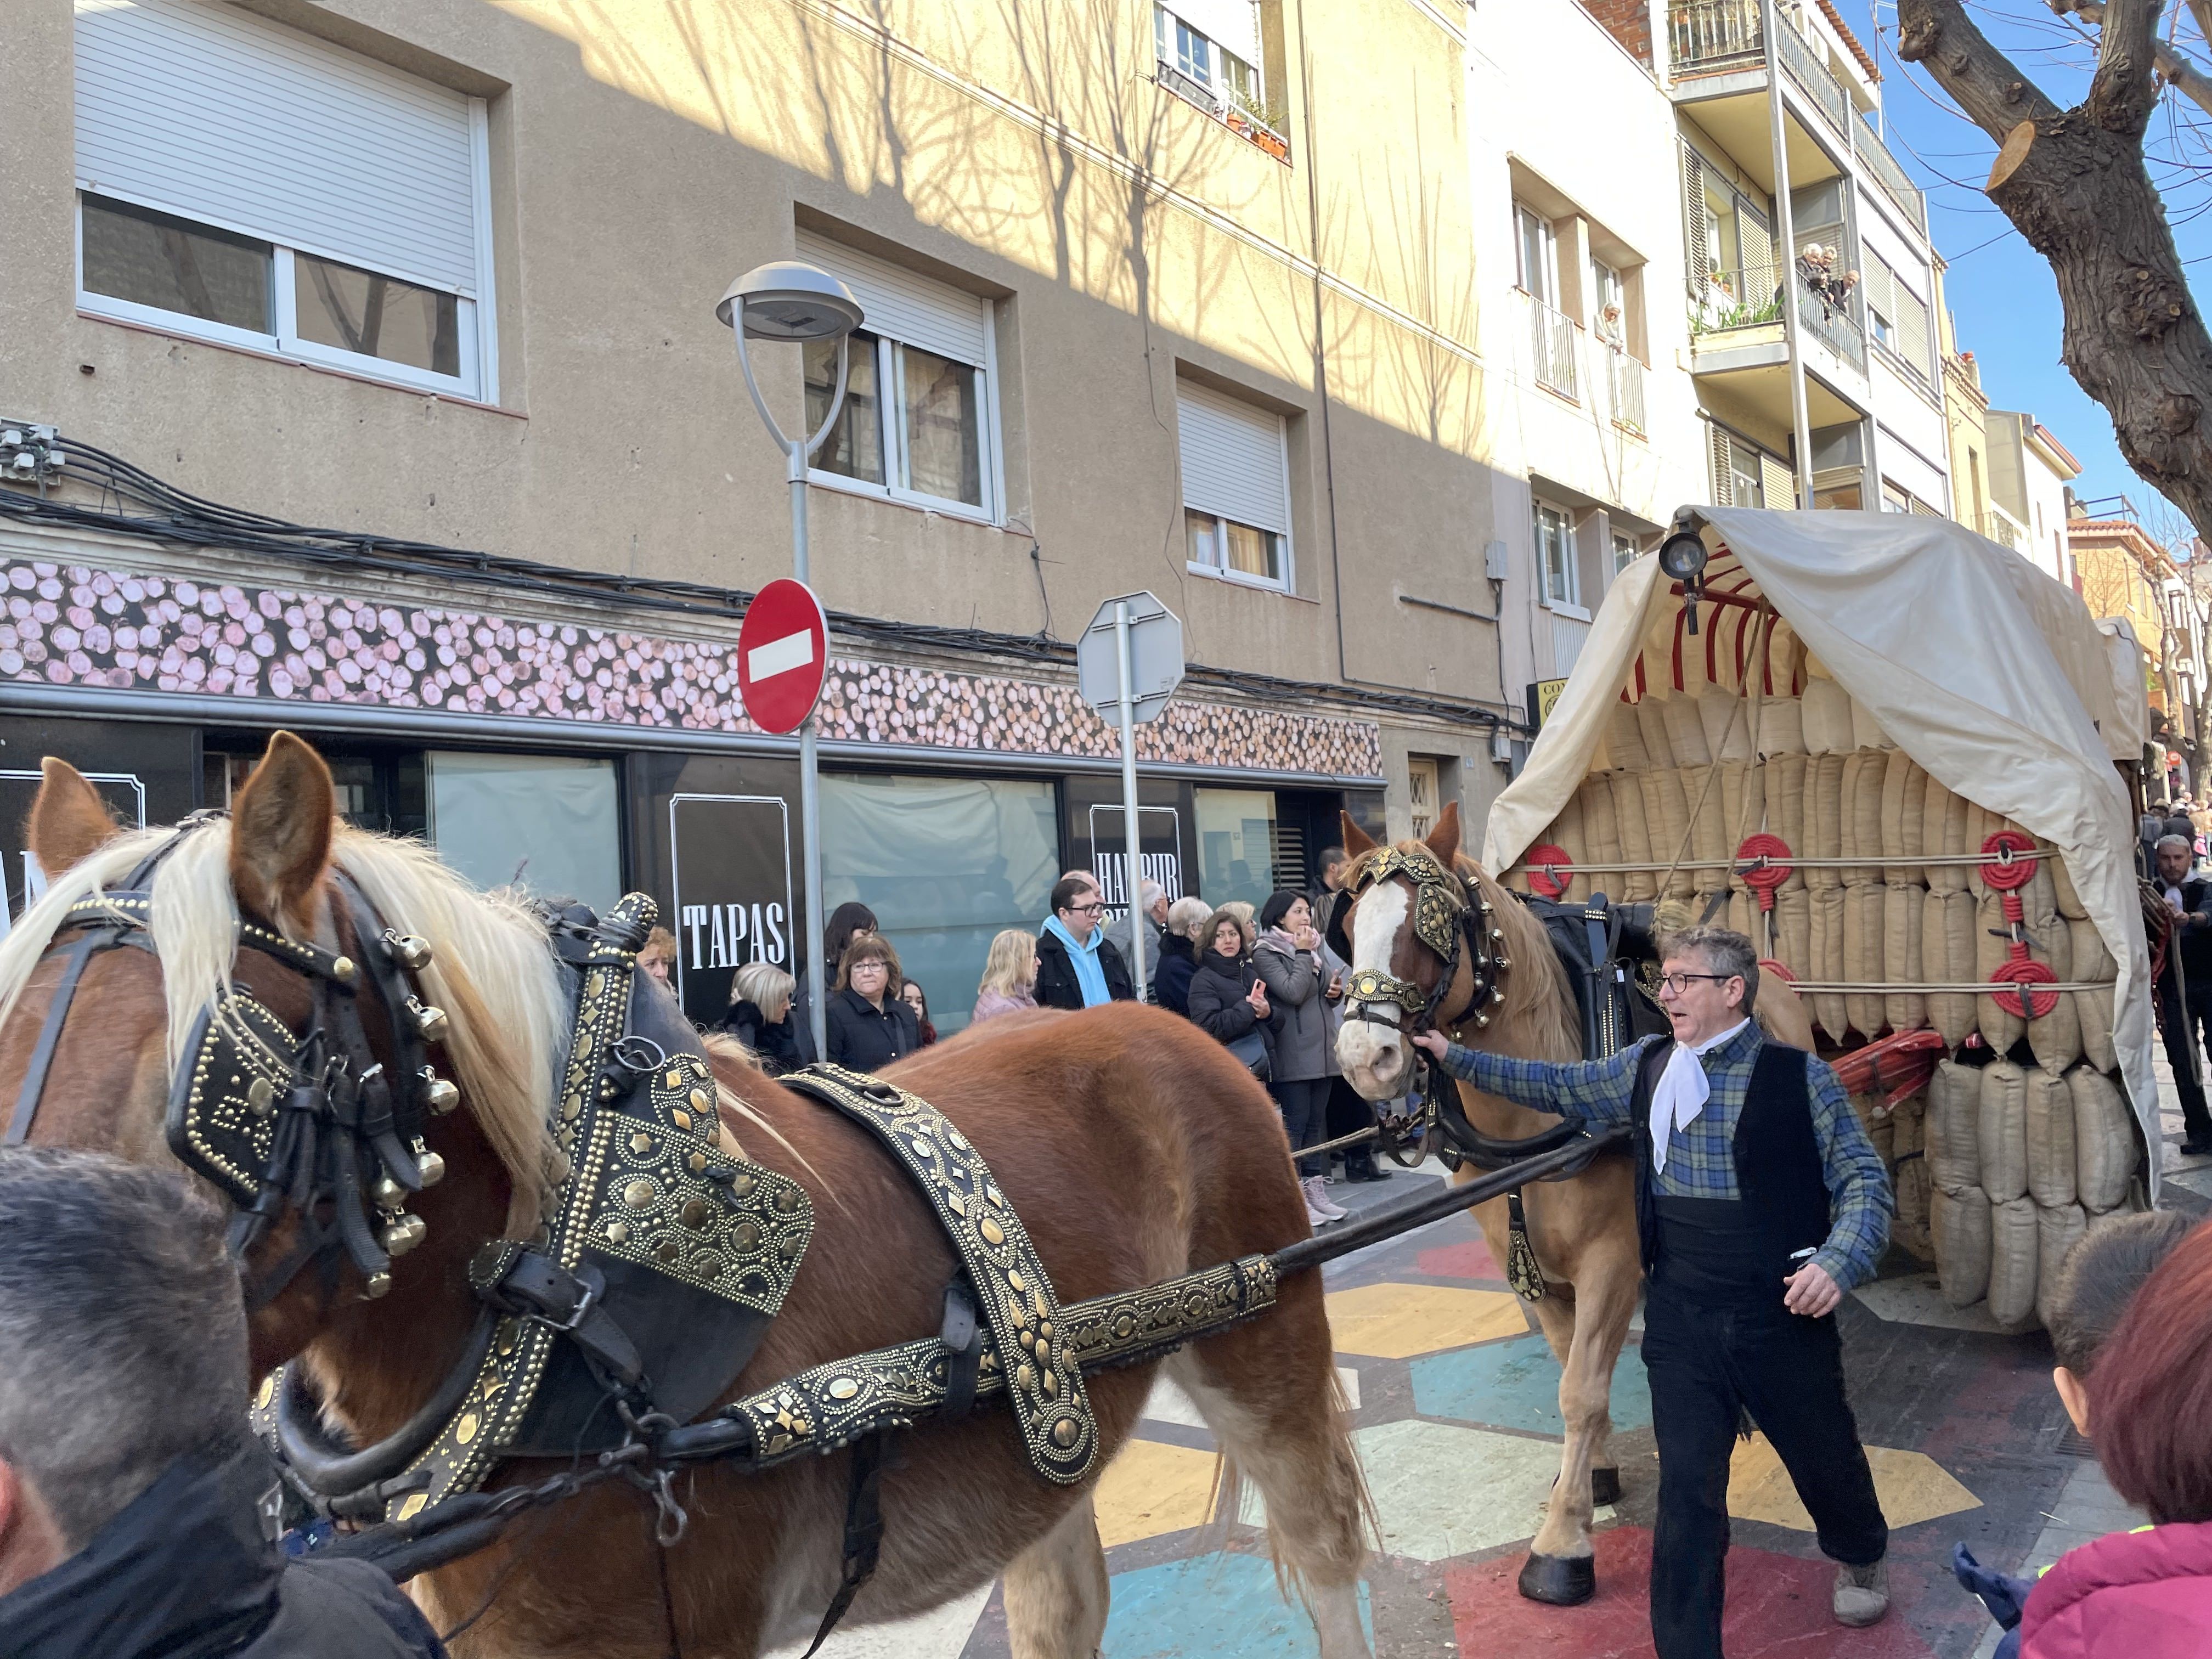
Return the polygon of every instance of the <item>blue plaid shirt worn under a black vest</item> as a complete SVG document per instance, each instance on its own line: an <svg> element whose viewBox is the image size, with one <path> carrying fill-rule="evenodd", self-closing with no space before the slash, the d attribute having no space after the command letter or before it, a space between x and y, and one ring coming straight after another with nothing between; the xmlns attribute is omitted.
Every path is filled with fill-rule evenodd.
<svg viewBox="0 0 2212 1659"><path fill-rule="evenodd" d="M1712 1095L1705 1110L1668 1137L1666 1168L1652 1177L1655 1192L1674 1199L1743 1197L1736 1188L1736 1119L1752 1086L1752 1062L1763 1046L1759 1024L1750 1022L1699 1057ZM1637 1064L1646 1048L1648 1044L1639 1042L1610 1060L1575 1064L1509 1060L1451 1044L1444 1071L1540 1113L1626 1124L1637 1088ZM1805 1082L1812 1084L1812 1133L1820 1148L1820 1177L1827 1181L1832 1214L1827 1243L1814 1261L1840 1290L1851 1290L1874 1279L1874 1267L1889 1243L1889 1212L1896 1208L1889 1170L1882 1168L1858 1113L1851 1110L1851 1099L1825 1060L1807 1057Z"/></svg>

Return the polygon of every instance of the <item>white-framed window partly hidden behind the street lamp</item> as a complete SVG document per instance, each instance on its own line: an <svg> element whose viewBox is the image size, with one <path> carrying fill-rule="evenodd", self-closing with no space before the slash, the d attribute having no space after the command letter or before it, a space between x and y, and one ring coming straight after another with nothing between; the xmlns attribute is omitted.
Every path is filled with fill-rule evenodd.
<svg viewBox="0 0 2212 1659"><path fill-rule="evenodd" d="M867 319L847 347L836 425L810 456L814 482L995 522L991 301L807 230L799 257L838 276ZM807 431L836 394L836 354L805 347Z"/></svg>

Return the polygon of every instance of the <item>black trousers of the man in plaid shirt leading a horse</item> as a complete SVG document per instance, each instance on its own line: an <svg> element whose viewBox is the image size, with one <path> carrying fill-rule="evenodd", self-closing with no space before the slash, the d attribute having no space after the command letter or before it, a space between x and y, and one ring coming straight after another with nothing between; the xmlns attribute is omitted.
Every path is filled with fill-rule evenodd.
<svg viewBox="0 0 2212 1659"><path fill-rule="evenodd" d="M1818 1528L1820 1553L1849 1566L1882 1559L1889 1524L1843 1396L1834 1314L1792 1314L1781 1285L1770 1305L1725 1307L1655 1283L1644 1307L1644 1367L1659 1436L1652 1535L1659 1659L1721 1659L1728 1460L1741 1411L1752 1413L1790 1471Z"/></svg>

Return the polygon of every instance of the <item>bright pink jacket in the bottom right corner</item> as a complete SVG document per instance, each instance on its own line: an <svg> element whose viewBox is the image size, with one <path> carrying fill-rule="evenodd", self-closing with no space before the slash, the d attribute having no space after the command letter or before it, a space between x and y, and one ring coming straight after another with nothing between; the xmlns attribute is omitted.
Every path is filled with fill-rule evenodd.
<svg viewBox="0 0 2212 1659"><path fill-rule="evenodd" d="M2201 1659L2212 1652L2212 1522L2108 1533L2028 1593L2020 1659Z"/></svg>

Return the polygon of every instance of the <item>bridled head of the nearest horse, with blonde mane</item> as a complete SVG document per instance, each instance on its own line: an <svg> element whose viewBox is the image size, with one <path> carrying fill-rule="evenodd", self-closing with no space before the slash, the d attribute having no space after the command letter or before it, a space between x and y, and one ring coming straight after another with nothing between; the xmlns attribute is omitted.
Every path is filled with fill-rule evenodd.
<svg viewBox="0 0 2212 1659"><path fill-rule="evenodd" d="M290 732L228 816L164 830L119 827L46 759L29 845L49 887L0 942L9 1139L219 1192L257 1374L358 1336L387 1294L440 1363L471 1252L533 1230L560 1168L542 920L343 825L330 768Z"/></svg>

